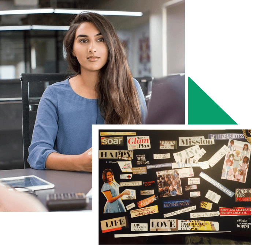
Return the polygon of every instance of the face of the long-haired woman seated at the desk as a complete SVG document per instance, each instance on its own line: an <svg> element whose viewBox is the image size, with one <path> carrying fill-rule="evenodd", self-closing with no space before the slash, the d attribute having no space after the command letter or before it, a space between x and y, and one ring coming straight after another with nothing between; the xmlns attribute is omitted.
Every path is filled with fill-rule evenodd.
<svg viewBox="0 0 256 249"><path fill-rule="evenodd" d="M77 57L81 73L99 71L107 63L107 46L93 23L85 22L77 28L73 55Z"/></svg>

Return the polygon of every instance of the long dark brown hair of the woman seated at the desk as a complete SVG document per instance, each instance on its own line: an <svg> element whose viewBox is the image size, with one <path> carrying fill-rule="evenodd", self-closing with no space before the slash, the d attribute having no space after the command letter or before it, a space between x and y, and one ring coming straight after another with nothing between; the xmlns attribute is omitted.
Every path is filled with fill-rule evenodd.
<svg viewBox="0 0 256 249"><path fill-rule="evenodd" d="M81 73L80 64L72 54L77 28L91 22L101 32L108 49L108 61L101 68L99 82L95 86L98 105L105 124L141 124L140 104L125 50L112 24L104 17L92 12L81 12L75 16L64 38L67 62L76 75Z"/></svg>

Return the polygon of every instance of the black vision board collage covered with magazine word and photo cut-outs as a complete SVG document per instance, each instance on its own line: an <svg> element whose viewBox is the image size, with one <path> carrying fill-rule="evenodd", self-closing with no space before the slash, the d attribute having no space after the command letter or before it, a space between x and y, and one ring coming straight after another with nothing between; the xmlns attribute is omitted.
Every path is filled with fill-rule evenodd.
<svg viewBox="0 0 256 249"><path fill-rule="evenodd" d="M251 231L251 130L99 130L99 243Z"/></svg>

